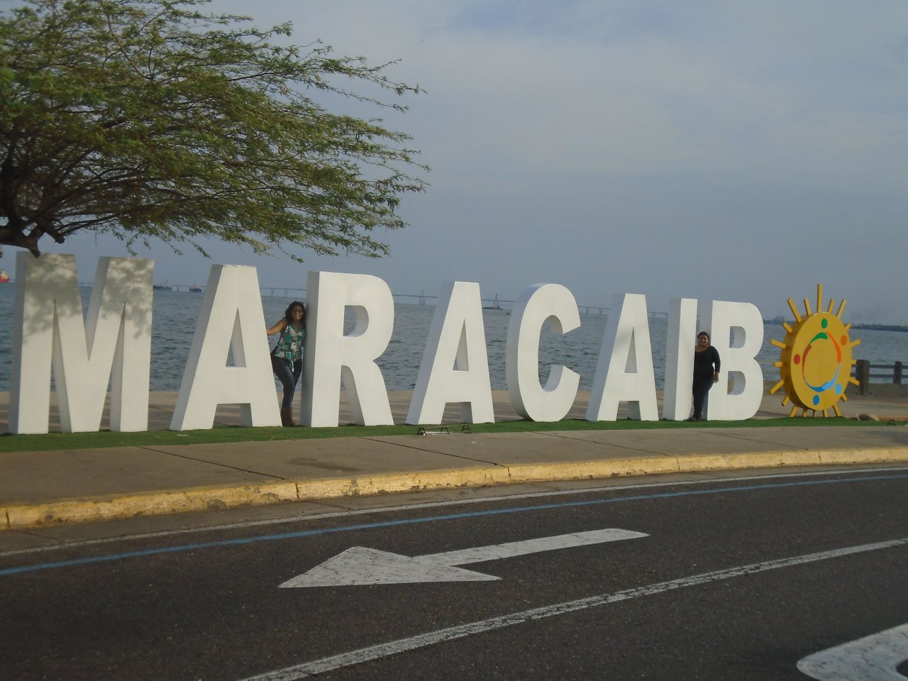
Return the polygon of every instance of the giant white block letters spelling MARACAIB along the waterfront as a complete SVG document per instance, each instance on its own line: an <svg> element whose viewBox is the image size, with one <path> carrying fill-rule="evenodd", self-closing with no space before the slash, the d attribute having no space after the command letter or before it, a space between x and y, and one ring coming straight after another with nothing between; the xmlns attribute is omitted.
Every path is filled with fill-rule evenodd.
<svg viewBox="0 0 908 681"><path fill-rule="evenodd" d="M52 370L65 431L100 429L108 386L111 429L148 429L152 283L150 260L101 258L84 318L74 256L45 254L36 259L18 253L11 432L47 432ZM376 363L394 327L388 285L370 275L311 271L307 294L301 423L339 425L342 380L356 423L392 425L388 392ZM356 324L344 334L347 308L356 312ZM611 309L587 419L617 419L621 402L627 402L631 418L659 419L646 298L617 294ZM696 300L680 298L670 303L662 417L679 420L690 413L691 346L698 314L722 357L708 417L749 419L764 389L763 371L755 359L764 334L759 311L751 303L729 301L706 301L698 310ZM559 365L552 366L545 385L541 383L539 334L547 324L562 334L576 329L577 302L558 284L530 286L511 313L505 369L514 409L537 421L563 419L580 380L575 371ZM233 364L228 365L231 354ZM723 390L729 376L735 387ZM171 429L210 429L221 404L240 405L243 425L281 424L253 267L212 266ZM459 404L465 421L495 420L477 283L443 285L406 422L437 424L448 404Z"/></svg>

